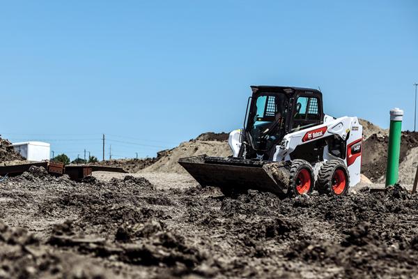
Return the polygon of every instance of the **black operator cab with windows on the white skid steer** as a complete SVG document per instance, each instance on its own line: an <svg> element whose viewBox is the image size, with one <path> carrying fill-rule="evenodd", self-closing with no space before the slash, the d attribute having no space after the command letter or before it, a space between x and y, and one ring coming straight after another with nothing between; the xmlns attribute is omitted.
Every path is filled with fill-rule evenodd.
<svg viewBox="0 0 418 279"><path fill-rule="evenodd" d="M251 86L246 115L245 158L269 160L285 135L323 123L322 93L316 89Z"/></svg>

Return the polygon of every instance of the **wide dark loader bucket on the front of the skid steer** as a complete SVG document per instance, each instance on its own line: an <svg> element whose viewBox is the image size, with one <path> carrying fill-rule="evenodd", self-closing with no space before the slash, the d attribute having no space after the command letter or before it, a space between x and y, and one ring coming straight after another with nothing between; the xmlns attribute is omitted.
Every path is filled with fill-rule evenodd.
<svg viewBox="0 0 418 279"><path fill-rule="evenodd" d="M178 163L201 186L287 193L290 175L288 163L206 155L181 158Z"/></svg>

